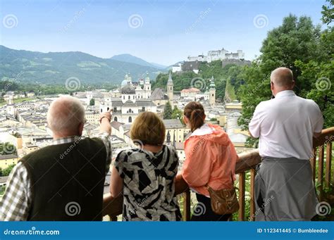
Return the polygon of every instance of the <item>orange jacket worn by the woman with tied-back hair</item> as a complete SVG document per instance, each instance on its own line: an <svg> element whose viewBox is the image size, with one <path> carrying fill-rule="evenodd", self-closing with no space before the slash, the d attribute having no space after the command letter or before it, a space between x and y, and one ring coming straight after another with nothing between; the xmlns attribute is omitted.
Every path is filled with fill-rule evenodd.
<svg viewBox="0 0 334 240"><path fill-rule="evenodd" d="M237 159L228 134L217 125L204 124L185 140L182 176L191 189L209 196L206 184L214 190L233 188Z"/></svg>

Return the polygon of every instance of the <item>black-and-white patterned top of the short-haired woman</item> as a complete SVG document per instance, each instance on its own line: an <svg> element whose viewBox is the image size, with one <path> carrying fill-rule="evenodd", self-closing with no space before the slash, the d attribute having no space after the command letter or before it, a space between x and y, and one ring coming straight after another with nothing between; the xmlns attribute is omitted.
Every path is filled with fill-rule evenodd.
<svg viewBox="0 0 334 240"><path fill-rule="evenodd" d="M158 153L143 149L121 151L115 167L123 178L123 220L180 220L174 196L178 154L172 146L163 145Z"/></svg>

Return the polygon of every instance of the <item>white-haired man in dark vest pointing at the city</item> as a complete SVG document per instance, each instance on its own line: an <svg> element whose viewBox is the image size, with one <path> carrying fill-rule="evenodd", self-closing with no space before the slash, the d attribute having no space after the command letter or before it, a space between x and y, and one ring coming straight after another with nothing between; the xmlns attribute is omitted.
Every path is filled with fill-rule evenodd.
<svg viewBox="0 0 334 240"><path fill-rule="evenodd" d="M53 143L20 159L8 178L0 220L101 220L111 163L111 113L101 113L97 138L81 137L85 108L72 96L51 103Z"/></svg>

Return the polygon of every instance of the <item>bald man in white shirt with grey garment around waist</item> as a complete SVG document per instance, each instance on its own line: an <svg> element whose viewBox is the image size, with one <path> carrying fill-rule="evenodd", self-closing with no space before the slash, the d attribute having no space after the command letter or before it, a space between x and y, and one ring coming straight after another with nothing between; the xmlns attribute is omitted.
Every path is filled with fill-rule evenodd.
<svg viewBox="0 0 334 240"><path fill-rule="evenodd" d="M256 220L311 220L316 215L316 191L309 158L312 139L321 133L318 105L292 91L292 71L271 73L274 99L256 106L249 133L259 137L261 165L256 174Z"/></svg>

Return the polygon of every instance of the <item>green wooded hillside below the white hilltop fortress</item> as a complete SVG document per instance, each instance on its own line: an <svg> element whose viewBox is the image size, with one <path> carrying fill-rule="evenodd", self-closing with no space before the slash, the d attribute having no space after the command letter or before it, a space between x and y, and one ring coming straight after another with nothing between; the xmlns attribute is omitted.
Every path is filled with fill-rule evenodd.
<svg viewBox="0 0 334 240"><path fill-rule="evenodd" d="M174 91L181 91L182 89L189 89L196 87L201 91L206 91L209 88L209 80L213 76L216 83L216 97L222 99L225 96L226 82L230 83L228 86L228 93L234 96L232 100L238 99L235 92L238 91L242 80L242 67L237 65L225 65L222 68L221 61L213 61L211 63L200 63L199 73L194 72L174 72L172 74ZM153 82L152 88L160 87L166 89L168 74L161 73Z"/></svg>

